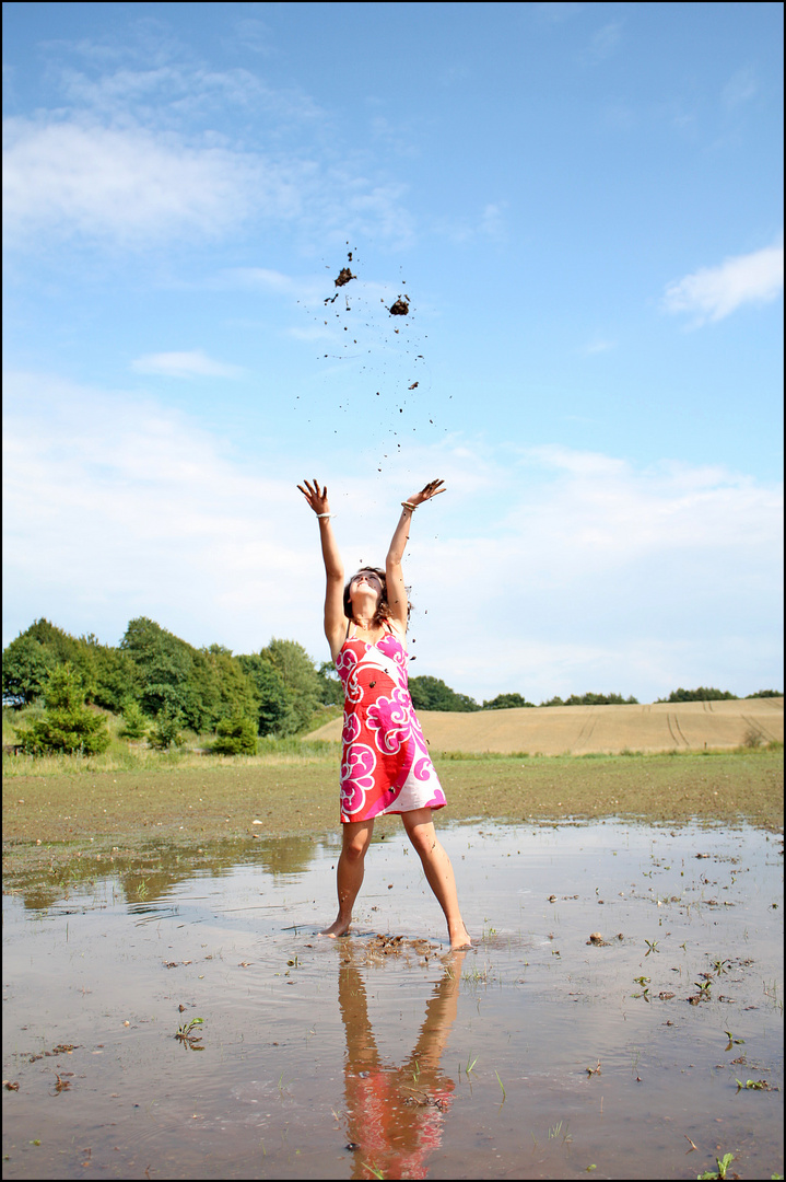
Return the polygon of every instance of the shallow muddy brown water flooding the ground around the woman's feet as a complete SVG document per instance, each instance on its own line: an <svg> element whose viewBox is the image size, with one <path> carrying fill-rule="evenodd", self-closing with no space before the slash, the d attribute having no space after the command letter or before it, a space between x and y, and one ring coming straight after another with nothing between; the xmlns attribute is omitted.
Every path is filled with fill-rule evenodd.
<svg viewBox="0 0 786 1182"><path fill-rule="evenodd" d="M780 838L440 837L470 953L395 830L340 941L334 836L5 897L4 1177L782 1173Z"/></svg>

